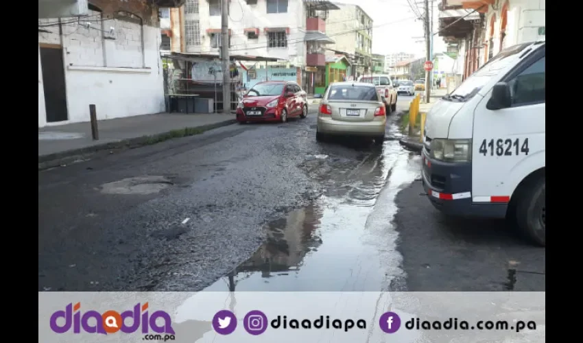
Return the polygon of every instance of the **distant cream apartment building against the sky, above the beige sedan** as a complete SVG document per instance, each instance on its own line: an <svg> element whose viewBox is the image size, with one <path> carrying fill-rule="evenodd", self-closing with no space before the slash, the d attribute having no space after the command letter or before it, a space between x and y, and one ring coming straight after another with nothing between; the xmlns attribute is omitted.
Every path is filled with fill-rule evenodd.
<svg viewBox="0 0 583 343"><path fill-rule="evenodd" d="M353 78L372 71L372 19L360 6L336 3L326 22L326 34L335 40L328 49L350 57ZM333 53L331 53L333 54Z"/></svg>

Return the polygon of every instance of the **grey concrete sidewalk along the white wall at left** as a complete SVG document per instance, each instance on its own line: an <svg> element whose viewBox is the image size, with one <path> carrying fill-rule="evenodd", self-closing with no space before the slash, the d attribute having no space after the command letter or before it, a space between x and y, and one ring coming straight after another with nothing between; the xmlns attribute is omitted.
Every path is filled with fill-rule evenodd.
<svg viewBox="0 0 583 343"><path fill-rule="evenodd" d="M91 137L91 124L71 123L38 129L38 167L45 169L99 150L139 147L167 139L190 136L235 123L235 115L222 113L159 113L97 123L99 140Z"/></svg>

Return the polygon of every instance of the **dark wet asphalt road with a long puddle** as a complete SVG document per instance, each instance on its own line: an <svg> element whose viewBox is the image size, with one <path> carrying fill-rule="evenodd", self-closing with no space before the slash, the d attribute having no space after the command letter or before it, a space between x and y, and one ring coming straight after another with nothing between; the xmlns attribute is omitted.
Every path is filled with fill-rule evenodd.
<svg viewBox="0 0 583 343"><path fill-rule="evenodd" d="M314 109L39 172L39 291L544 289L544 249L419 195L398 113L375 147Z"/></svg>

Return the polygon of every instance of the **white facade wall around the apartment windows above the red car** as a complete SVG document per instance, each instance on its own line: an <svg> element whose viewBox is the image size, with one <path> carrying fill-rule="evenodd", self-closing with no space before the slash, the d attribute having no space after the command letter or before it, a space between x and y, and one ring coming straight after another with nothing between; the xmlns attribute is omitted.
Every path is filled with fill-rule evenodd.
<svg viewBox="0 0 583 343"><path fill-rule="evenodd" d="M220 29L221 16L211 16L209 1L199 0L201 27L201 47L193 52L217 54L218 49L211 48L211 34L206 29ZM245 0L232 0L230 3L229 28L231 29L230 54L248 56L270 56L289 60L302 67L305 64L305 25L306 12L302 0L289 0L286 13L267 13L267 1L258 0L257 4L248 5ZM257 27L260 29L258 39L248 39L243 29ZM265 27L289 27L287 48L268 48Z"/></svg>

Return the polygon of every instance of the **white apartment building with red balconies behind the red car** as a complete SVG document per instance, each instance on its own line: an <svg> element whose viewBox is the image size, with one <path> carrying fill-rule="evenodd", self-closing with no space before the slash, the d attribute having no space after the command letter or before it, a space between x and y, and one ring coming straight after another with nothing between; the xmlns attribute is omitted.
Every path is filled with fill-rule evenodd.
<svg viewBox="0 0 583 343"><path fill-rule="evenodd" d="M325 79L324 46L334 43L326 36L326 19L329 11L338 9L326 0L230 0L230 54L278 58L280 62L270 62L267 69L293 69L289 73L295 73L294 81L313 93ZM171 51L218 56L220 0L185 0L182 8L170 9L169 14L170 28L163 30L162 40L169 34ZM265 64L248 67L252 69L249 75L257 75L254 69L263 69ZM259 73L272 75L272 71ZM253 80L247 85L259 82Z"/></svg>

